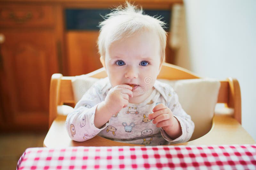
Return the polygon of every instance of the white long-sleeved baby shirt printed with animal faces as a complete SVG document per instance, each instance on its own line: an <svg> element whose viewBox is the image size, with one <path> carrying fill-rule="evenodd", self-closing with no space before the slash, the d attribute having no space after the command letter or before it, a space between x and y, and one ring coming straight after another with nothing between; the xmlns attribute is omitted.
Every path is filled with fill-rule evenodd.
<svg viewBox="0 0 256 170"><path fill-rule="evenodd" d="M100 129L94 125L94 115L98 104L105 100L111 85L108 77L100 79L84 94L75 110L68 114L66 128L75 141L85 141L99 135L118 142L141 145L169 145L188 141L194 131L191 117L182 109L178 96L170 85L156 80L151 95L140 104L129 103L127 107L113 115ZM156 127L148 114L159 103L172 110L180 122L182 135L170 138L162 128Z"/></svg>

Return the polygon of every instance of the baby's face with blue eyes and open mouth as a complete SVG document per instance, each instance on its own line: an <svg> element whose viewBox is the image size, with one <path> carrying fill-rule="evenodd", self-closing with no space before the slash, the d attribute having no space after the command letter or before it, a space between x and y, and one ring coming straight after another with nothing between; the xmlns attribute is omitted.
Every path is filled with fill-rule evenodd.
<svg viewBox="0 0 256 170"><path fill-rule="evenodd" d="M106 71L113 87L134 84L133 97L151 93L161 64L159 37L139 32L113 42L105 56Z"/></svg>

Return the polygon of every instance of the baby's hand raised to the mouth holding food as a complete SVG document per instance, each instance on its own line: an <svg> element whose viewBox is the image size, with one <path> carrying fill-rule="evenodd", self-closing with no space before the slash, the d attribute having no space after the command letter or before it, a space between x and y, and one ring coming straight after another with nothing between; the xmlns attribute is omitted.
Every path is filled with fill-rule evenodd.
<svg viewBox="0 0 256 170"><path fill-rule="evenodd" d="M111 115L115 115L128 105L129 97L132 97L132 87L127 84L117 85L109 90L105 98L105 106Z"/></svg>

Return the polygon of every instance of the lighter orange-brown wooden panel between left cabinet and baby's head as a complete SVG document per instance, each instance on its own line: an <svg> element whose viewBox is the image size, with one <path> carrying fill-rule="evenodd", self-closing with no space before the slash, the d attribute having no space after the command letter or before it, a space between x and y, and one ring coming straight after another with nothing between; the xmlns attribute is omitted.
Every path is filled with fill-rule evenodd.
<svg viewBox="0 0 256 170"><path fill-rule="evenodd" d="M97 49L98 31L68 32L68 76L90 73L102 67Z"/></svg>

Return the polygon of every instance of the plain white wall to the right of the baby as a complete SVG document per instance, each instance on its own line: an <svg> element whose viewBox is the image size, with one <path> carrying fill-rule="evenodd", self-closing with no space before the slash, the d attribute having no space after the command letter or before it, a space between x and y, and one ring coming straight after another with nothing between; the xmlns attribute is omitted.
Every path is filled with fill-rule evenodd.
<svg viewBox="0 0 256 170"><path fill-rule="evenodd" d="M202 77L236 78L242 126L256 140L256 1L184 0L184 6L188 56L178 52L176 64Z"/></svg>

